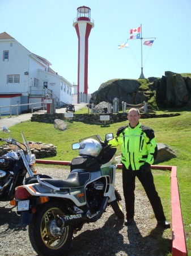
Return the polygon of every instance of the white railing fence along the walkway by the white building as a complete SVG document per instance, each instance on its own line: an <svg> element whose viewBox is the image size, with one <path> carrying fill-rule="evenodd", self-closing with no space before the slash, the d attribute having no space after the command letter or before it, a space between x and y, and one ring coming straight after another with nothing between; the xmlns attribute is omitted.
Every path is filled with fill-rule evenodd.
<svg viewBox="0 0 191 256"><path fill-rule="evenodd" d="M16 115L19 115L20 106L27 106L27 105L31 106L31 113L33 113L34 109L43 108L43 110L44 110L44 102L35 102L35 103L29 103L29 104L0 106L0 119L1 119L2 113L9 113L7 115L10 115L10 117L12 117L12 113L15 113ZM2 109L3 109L3 111L2 111Z"/></svg>

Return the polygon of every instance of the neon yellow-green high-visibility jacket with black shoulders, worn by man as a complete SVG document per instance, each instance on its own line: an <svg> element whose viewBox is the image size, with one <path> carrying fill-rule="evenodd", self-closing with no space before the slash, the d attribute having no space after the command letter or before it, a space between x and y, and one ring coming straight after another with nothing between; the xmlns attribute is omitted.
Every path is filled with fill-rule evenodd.
<svg viewBox="0 0 191 256"><path fill-rule="evenodd" d="M121 144L121 162L127 169L139 170L145 162L152 164L157 148L154 131L138 123L134 128L129 125L118 129L117 136L108 142L111 146Z"/></svg>

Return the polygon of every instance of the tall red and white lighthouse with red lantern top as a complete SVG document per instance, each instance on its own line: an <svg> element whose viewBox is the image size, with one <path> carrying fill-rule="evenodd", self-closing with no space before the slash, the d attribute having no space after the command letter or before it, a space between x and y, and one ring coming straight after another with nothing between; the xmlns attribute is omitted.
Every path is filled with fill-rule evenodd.
<svg viewBox="0 0 191 256"><path fill-rule="evenodd" d="M74 19L73 27L78 35L78 97L79 93L88 93L88 37L94 27L91 19L91 9L86 6L78 7L77 18ZM84 102L84 100L83 100ZM78 103L79 98L78 98Z"/></svg>

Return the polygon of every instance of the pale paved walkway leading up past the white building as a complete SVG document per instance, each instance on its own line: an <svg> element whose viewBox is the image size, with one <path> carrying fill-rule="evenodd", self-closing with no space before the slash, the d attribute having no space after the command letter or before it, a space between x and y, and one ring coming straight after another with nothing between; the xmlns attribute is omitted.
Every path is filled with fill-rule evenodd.
<svg viewBox="0 0 191 256"><path fill-rule="evenodd" d="M75 111L84 108L86 105L87 104L84 104L84 103L74 104ZM65 113L65 112L66 112L66 108L56 109L56 113ZM2 128L4 126L9 128L11 126L16 125L17 123L27 121L27 120L31 119L33 114L44 114L44 113L46 113L46 111L33 112L32 114L31 113L21 114L21 115L18 115L18 116L14 115L11 118L10 117L2 118L2 119L0 119L0 130L2 130Z"/></svg>

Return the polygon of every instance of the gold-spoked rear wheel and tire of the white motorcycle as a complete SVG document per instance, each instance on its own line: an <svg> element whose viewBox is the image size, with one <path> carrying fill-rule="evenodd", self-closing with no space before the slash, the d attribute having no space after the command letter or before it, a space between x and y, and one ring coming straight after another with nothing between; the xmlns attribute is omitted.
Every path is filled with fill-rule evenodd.
<svg viewBox="0 0 191 256"><path fill-rule="evenodd" d="M60 228L51 225L56 218L67 211L59 202L41 205L34 214L28 227L29 240L38 255L61 256L71 245L73 228L66 226L60 234ZM53 233L54 232L54 233Z"/></svg>

